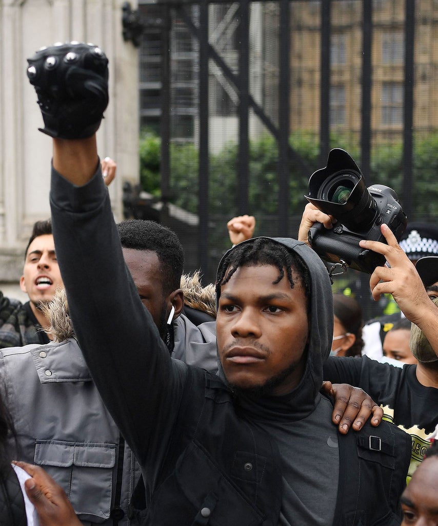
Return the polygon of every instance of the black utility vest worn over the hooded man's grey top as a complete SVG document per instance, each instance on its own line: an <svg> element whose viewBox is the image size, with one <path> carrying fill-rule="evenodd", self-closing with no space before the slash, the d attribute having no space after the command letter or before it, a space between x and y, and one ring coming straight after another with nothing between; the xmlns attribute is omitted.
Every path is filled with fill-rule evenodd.
<svg viewBox="0 0 438 526"><path fill-rule="evenodd" d="M283 480L276 444L239 415L222 382L190 374L153 495L140 480L131 517L142 526L277 526ZM187 393L189 395L187 396ZM192 403L205 397L197 419ZM197 401L197 400L196 400ZM195 403L194 407L200 407ZM187 416L187 418L184 418ZM334 526L396 526L411 439L389 422L338 433ZM141 511L139 511L141 510Z"/></svg>

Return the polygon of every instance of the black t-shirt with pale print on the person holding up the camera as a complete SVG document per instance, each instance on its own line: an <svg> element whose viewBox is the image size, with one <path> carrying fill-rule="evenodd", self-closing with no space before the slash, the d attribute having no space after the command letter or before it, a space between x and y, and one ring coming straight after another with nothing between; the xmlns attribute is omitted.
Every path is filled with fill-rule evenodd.
<svg viewBox="0 0 438 526"><path fill-rule="evenodd" d="M329 358L324 379L350 383L366 391L382 407L385 420L393 422L412 437L409 477L430 446L427 440L438 423L438 389L424 387L415 375L416 365L393 367L364 356Z"/></svg>

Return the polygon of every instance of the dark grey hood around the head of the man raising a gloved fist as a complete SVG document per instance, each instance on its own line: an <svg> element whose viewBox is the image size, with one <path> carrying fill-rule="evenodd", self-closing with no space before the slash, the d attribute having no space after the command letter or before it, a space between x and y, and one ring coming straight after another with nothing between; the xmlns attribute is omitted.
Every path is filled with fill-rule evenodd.
<svg viewBox="0 0 438 526"><path fill-rule="evenodd" d="M298 386L288 395L270 397L279 402L285 402L284 410L290 409L310 411L316 395L322 384L322 363L327 359L331 349L333 337L333 296L327 267L314 250L304 242L292 238L253 238L228 250L222 257L218 271L227 264L233 250L243 244L254 242L255 239L270 239L284 245L288 251L294 252L309 271L309 343L307 346L307 361L303 377ZM221 295L221 289L216 280L216 302ZM221 364L218 363L218 375L226 382ZM306 408L306 409L305 409ZM303 414L301 414L301 417Z"/></svg>

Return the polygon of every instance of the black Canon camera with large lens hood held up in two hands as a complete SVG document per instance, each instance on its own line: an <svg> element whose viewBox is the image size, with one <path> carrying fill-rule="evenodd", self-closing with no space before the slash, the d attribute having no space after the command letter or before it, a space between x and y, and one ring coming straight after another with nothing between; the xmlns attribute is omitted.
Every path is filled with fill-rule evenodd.
<svg viewBox="0 0 438 526"><path fill-rule="evenodd" d="M384 185L367 188L359 167L341 148L330 150L327 166L310 176L306 198L337 219L330 230L320 223L312 226L309 243L319 257L341 266L343 271L350 267L372 274L376 267L385 264L385 257L361 248L359 241L385 243L380 231L382 223L389 226L398 241L406 228L406 214L395 191ZM332 270L331 274L336 274Z"/></svg>

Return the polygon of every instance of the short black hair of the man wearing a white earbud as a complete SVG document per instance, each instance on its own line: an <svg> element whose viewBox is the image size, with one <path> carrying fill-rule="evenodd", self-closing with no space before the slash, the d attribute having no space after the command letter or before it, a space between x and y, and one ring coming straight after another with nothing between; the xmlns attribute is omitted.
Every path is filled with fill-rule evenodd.
<svg viewBox="0 0 438 526"><path fill-rule="evenodd" d="M117 225L123 248L150 250L157 254L163 272L164 292L180 288L184 267L184 250L170 228L146 219L127 219Z"/></svg>

